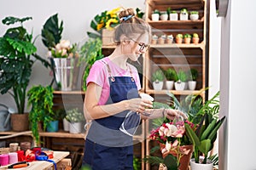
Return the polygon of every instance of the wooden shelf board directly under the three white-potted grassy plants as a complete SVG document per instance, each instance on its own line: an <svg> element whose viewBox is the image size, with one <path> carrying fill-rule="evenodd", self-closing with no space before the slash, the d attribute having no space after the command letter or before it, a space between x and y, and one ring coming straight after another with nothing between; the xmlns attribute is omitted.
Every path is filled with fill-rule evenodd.
<svg viewBox="0 0 256 170"><path fill-rule="evenodd" d="M174 95L189 95L189 94L201 94L201 90L146 90L147 94L166 94L170 92Z"/></svg>

